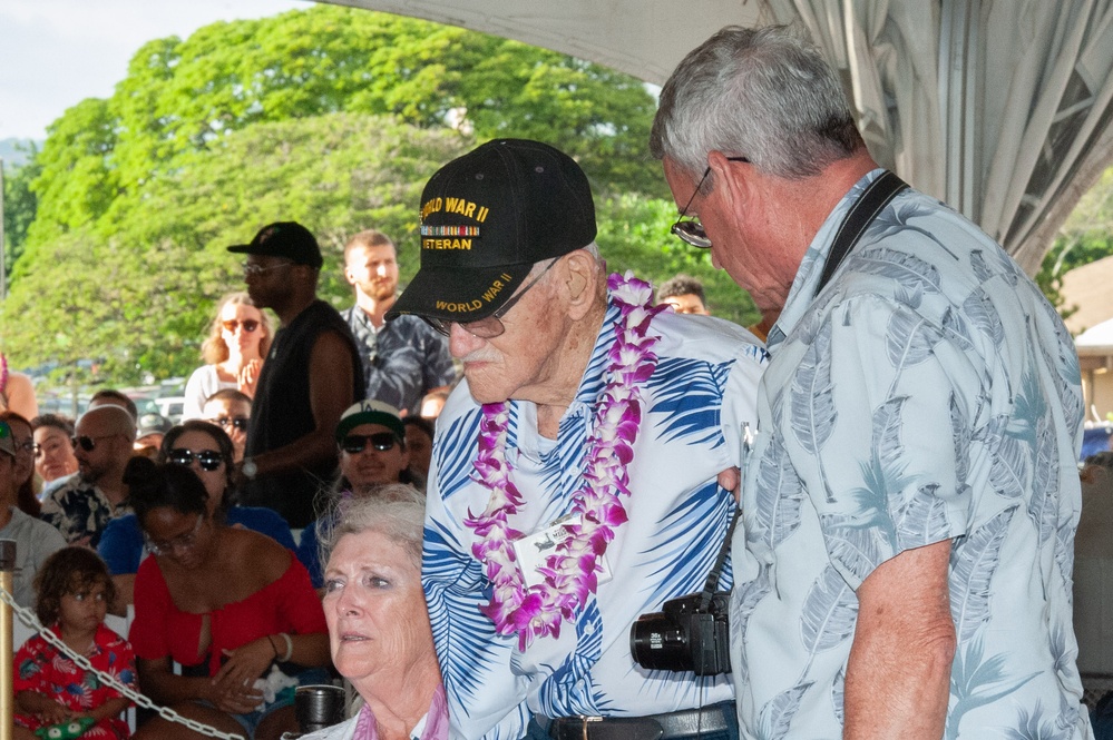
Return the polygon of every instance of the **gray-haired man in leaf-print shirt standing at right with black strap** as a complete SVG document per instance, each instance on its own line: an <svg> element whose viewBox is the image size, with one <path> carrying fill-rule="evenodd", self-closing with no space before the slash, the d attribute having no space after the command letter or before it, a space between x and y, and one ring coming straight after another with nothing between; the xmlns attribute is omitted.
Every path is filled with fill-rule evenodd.
<svg viewBox="0 0 1113 740"><path fill-rule="evenodd" d="M975 225L875 162L838 75L728 27L661 92L673 231L767 316L735 534L746 738L1083 738L1071 336Z"/></svg>

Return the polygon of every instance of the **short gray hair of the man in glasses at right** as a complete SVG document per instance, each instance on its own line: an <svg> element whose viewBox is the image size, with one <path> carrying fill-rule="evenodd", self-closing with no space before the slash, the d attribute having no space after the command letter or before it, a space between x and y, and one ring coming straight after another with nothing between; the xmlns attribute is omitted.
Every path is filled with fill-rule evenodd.
<svg viewBox="0 0 1113 740"><path fill-rule="evenodd" d="M801 178L860 146L837 72L784 26L728 26L691 51L662 88L650 134L653 156L693 177L711 151Z"/></svg>

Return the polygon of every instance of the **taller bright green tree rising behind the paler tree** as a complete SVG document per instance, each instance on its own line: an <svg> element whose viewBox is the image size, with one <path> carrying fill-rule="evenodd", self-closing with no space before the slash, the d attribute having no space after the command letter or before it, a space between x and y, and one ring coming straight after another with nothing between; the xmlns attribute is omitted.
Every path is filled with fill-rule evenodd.
<svg viewBox="0 0 1113 740"><path fill-rule="evenodd" d="M428 21L320 4L148 42L107 101L50 129L32 241L114 233L178 156L261 122L329 112L457 124L479 140L538 138L576 156L602 191L665 195L646 154L653 97L628 76Z"/></svg>

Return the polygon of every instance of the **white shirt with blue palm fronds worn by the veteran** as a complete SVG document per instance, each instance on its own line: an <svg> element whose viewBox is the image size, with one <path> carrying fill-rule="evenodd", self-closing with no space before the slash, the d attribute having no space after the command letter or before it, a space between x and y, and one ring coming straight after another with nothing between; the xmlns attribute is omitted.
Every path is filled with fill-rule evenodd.
<svg viewBox="0 0 1113 740"><path fill-rule="evenodd" d="M572 511L587 435L614 343L611 305L575 401L556 440L537 433L536 406L511 402L507 457L525 504L509 524L536 532ZM490 497L472 481L481 416L467 383L437 421L428 486L422 580L448 694L453 738L520 738L530 714L644 716L731 701L729 675L648 671L629 652L640 614L703 589L734 510L717 473L739 463L741 428L756 421L764 349L744 329L672 312L653 319L660 361L643 386L643 417L627 467L629 521L606 552L612 579L589 596L559 638L498 637L479 612L491 588L465 526ZM647 411L647 413L646 413ZM730 568L723 588L730 588Z"/></svg>

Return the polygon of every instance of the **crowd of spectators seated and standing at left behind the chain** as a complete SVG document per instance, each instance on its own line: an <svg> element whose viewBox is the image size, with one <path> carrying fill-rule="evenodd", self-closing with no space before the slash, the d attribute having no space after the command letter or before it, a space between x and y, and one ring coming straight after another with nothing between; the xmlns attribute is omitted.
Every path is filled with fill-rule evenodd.
<svg viewBox="0 0 1113 740"><path fill-rule="evenodd" d="M340 537L344 502L377 497L383 486L384 500L420 501L435 420L418 414L439 410L456 379L440 334L382 330L397 289L393 245L368 246L367 235L353 244L357 303L343 319L315 298L320 249L300 225L272 225L233 249L247 255L247 292L217 303L177 425L139 414L111 388L76 421L38 415L30 383L14 373L0 402L0 537L18 545L17 603L36 604L32 586L51 554L67 545L99 554L110 582L97 599L107 600L105 611L134 613L127 649L139 688L247 737L296 729L293 688L330 680L313 592L322 586L322 543ZM351 325L362 327L359 342ZM435 366L422 371L426 356ZM291 476L301 485L289 485ZM407 546L419 547L412 532ZM428 663L428 621L424 629ZM26 695L32 709L19 732L78 719L64 702ZM195 736L156 717L136 737Z"/></svg>

